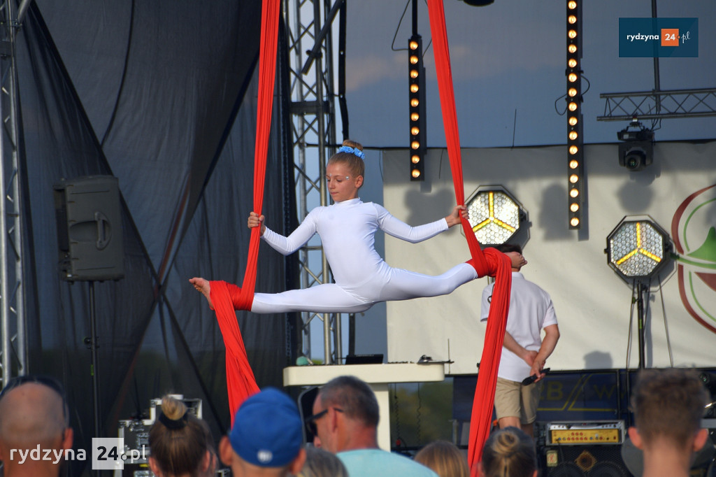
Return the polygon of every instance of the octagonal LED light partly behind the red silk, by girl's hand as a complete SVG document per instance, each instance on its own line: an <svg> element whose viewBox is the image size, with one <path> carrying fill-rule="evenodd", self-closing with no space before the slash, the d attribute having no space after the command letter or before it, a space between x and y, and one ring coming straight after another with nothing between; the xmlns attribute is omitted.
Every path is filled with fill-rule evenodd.
<svg viewBox="0 0 716 477"><path fill-rule="evenodd" d="M526 216L521 204L501 186L488 186L465 202L470 226L485 246L505 244L519 230Z"/></svg>

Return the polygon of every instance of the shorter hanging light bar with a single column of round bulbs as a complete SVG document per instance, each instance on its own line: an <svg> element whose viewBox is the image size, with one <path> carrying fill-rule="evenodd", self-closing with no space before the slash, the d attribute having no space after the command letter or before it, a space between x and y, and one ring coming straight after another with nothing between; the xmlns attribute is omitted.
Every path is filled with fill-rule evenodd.
<svg viewBox="0 0 716 477"><path fill-rule="evenodd" d="M425 180L425 67L422 37L408 40L408 93L410 97L410 180Z"/></svg>

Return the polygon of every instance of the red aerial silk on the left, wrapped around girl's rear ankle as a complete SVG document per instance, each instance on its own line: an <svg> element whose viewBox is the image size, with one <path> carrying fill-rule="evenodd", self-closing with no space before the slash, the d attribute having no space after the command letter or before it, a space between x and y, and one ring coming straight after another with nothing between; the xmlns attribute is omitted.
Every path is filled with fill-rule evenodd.
<svg viewBox="0 0 716 477"><path fill-rule="evenodd" d="M253 211L261 215L266 155L271 132L271 110L276 78L276 46L279 37L281 0L263 0L261 6L261 44L258 56L258 106L256 108L256 145L253 153ZM211 302L226 346L226 386L231 424L236 410L246 398L258 392L256 379L248 364L246 347L236 322L236 309L251 309L256 286L256 265L260 227L251 229L248 259L241 289L225 281L211 281Z"/></svg>

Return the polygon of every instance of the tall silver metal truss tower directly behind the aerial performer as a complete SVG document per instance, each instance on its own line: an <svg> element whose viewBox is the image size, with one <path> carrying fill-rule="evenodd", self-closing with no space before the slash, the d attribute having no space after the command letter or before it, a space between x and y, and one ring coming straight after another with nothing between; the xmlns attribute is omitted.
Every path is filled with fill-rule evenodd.
<svg viewBox="0 0 716 477"><path fill-rule="evenodd" d="M289 42L291 143L299 221L315 206L328 205L326 158L335 152L333 52L331 23L337 6L329 0L282 0ZM322 6L321 6L322 3ZM326 256L317 238L299 250L301 288L331 283ZM323 322L324 363L342 356L340 314L301 314L301 355L311 357L311 322ZM334 349L332 350L332 342Z"/></svg>

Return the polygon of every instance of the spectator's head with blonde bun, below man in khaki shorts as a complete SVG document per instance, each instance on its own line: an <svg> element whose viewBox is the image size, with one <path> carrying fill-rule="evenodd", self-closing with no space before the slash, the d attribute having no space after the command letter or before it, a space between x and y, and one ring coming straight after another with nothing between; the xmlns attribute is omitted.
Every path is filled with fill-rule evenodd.
<svg viewBox="0 0 716 477"><path fill-rule="evenodd" d="M537 456L534 441L518 428L493 432L483 448L480 473L485 477L535 477Z"/></svg>

